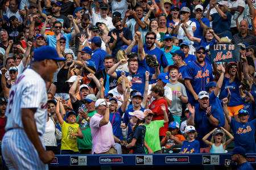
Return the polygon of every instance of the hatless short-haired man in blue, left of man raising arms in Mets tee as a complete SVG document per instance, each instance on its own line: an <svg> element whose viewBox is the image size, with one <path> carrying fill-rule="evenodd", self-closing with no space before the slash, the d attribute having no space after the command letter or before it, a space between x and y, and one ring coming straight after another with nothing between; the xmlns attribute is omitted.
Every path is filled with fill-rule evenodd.
<svg viewBox="0 0 256 170"><path fill-rule="evenodd" d="M104 58L104 63L103 63L105 66L105 69L99 69L95 73L95 76L98 80L100 80L101 78L104 79L105 93L117 87L117 78L113 78L107 74L109 69L114 66L114 63L115 63L114 58L112 56L106 56ZM90 93L91 94L94 93L93 90L96 88L96 84L94 83L94 81L90 81L88 86L91 87ZM96 94L97 94L97 91L96 91Z"/></svg>

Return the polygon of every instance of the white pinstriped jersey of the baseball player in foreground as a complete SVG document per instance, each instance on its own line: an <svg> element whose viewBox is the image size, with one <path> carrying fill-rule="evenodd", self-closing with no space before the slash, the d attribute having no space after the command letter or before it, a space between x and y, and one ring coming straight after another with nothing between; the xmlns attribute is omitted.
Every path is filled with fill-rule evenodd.
<svg viewBox="0 0 256 170"><path fill-rule="evenodd" d="M22 128L22 108L37 108L34 118L39 134L44 133L46 124L47 92L46 83L32 69L26 69L11 86L6 109L5 130Z"/></svg>

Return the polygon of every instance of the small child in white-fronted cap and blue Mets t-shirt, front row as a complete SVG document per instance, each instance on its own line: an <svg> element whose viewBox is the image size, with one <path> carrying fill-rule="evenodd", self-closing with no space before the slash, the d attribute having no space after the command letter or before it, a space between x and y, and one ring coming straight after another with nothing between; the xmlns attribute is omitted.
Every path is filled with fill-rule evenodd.
<svg viewBox="0 0 256 170"><path fill-rule="evenodd" d="M184 141L180 150L181 154L196 154L200 153L200 143L196 141L196 129L194 126L187 126L185 129L185 138L187 141Z"/></svg>

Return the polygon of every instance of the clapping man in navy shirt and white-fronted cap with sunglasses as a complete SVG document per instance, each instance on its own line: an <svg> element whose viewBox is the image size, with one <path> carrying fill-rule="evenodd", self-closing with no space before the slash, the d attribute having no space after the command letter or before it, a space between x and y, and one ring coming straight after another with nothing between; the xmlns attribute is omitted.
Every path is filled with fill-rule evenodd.
<svg viewBox="0 0 256 170"><path fill-rule="evenodd" d="M209 94L206 91L200 91L196 107L188 104L190 116L187 125L195 126L198 136L196 140L200 143L201 153L210 153L210 147L203 142L203 137L217 128L220 122L220 113L214 105L209 103Z"/></svg>

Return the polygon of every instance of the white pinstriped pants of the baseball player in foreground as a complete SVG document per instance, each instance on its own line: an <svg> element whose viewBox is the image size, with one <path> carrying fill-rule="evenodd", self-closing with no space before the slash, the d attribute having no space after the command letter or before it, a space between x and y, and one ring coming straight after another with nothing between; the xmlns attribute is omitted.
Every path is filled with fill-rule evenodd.
<svg viewBox="0 0 256 170"><path fill-rule="evenodd" d="M48 169L23 129L6 131L1 148L9 169Z"/></svg>

